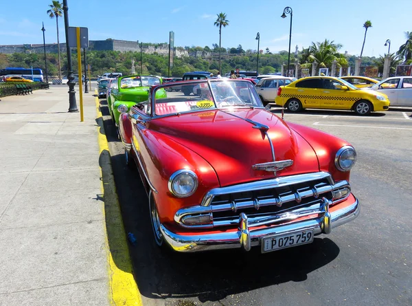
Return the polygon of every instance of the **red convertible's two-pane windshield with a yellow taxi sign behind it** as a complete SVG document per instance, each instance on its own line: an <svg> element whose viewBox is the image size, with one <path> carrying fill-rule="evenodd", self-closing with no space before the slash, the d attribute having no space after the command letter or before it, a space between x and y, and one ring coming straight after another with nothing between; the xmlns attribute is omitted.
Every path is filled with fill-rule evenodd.
<svg viewBox="0 0 412 306"><path fill-rule="evenodd" d="M155 91L157 116L233 107L263 107L251 82L212 79L179 85L168 83Z"/></svg>

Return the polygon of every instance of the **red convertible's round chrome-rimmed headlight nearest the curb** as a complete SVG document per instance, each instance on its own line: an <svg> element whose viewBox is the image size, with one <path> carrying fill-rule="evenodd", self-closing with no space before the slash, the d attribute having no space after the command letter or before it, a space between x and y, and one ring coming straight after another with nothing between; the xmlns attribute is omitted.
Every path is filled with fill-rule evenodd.
<svg viewBox="0 0 412 306"><path fill-rule="evenodd" d="M181 169L170 176L169 190L176 197L189 197L193 195L198 186L196 173Z"/></svg>

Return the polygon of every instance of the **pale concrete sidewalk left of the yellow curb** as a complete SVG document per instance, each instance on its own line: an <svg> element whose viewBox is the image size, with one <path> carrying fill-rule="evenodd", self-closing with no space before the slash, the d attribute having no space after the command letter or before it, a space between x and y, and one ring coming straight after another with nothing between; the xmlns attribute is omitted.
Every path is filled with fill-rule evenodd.
<svg viewBox="0 0 412 306"><path fill-rule="evenodd" d="M84 122L67 91L1 98L0 305L115 304L94 90Z"/></svg>

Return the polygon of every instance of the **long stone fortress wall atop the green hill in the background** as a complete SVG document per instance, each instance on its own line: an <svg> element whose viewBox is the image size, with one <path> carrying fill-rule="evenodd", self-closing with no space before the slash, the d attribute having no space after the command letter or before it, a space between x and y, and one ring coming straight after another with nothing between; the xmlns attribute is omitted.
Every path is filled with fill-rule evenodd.
<svg viewBox="0 0 412 306"><path fill-rule="evenodd" d="M45 45L46 53L57 53L57 43L48 43ZM186 50L182 48L174 48L174 56L190 56ZM106 39L105 41L89 41L89 48L87 50L97 51L120 51L120 52L140 52L139 41L119 41L116 39ZM25 45L0 45L0 53L39 53L44 52L43 44L25 44ZM60 43L60 52L66 52L66 43ZM144 45L142 52L147 54L168 55L169 45L167 43L157 45Z"/></svg>

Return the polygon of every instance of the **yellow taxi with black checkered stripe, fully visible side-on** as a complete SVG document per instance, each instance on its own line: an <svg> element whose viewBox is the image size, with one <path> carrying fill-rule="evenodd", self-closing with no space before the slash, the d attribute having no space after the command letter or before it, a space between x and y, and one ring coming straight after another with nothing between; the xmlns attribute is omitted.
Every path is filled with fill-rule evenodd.
<svg viewBox="0 0 412 306"><path fill-rule="evenodd" d="M303 109L345 109L358 115L387 111L387 95L354 87L341 78L309 76L277 89L277 105L297 112Z"/></svg>

